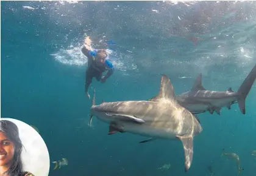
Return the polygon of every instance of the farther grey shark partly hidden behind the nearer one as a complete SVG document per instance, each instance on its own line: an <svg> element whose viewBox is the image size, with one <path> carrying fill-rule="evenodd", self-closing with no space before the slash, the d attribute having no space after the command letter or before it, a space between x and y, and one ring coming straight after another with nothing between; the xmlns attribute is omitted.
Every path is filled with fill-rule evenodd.
<svg viewBox="0 0 256 176"><path fill-rule="evenodd" d="M241 84L237 92L233 92L231 87L226 91L212 91L206 90L202 86L202 74L197 76L197 79L188 92L176 96L179 104L192 113L202 113L209 111L211 114L216 112L220 115L222 107L231 108L231 105L238 103L241 113L245 114L245 100L246 96L251 90L256 78L256 65L251 70L249 75Z"/></svg>

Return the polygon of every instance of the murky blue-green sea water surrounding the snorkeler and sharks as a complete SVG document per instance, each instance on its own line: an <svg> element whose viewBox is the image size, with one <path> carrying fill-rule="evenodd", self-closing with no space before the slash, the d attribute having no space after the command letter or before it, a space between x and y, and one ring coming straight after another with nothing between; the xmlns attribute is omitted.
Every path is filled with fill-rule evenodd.
<svg viewBox="0 0 256 176"><path fill-rule="evenodd" d="M249 2L1 2L1 117L33 124L46 142L51 161L68 166L49 175L256 175L256 86L246 99L246 115L231 110L199 115L203 131L194 138L194 157L184 172L180 141L138 143L144 137L107 135L93 119L85 96L87 58L80 52L86 35L93 47L113 40L110 61L116 67L105 84L93 81L96 104L148 100L161 74L176 94L191 89L199 73L210 90L234 91L256 63L256 3ZM89 90L92 96L92 89ZM171 164L161 170L165 164Z"/></svg>

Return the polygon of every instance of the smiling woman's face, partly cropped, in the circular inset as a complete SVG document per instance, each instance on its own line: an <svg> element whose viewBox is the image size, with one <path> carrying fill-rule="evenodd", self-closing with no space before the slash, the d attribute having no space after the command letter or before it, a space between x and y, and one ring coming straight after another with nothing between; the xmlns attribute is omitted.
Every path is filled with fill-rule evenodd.
<svg viewBox="0 0 256 176"><path fill-rule="evenodd" d="M0 166L9 164L12 161L15 147L3 132L0 132Z"/></svg>

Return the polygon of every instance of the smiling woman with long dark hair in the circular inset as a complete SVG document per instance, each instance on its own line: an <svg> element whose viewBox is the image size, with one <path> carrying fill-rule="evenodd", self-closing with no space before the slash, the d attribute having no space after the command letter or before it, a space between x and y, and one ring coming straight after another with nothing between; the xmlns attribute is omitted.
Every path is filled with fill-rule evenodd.
<svg viewBox="0 0 256 176"><path fill-rule="evenodd" d="M0 175L34 176L23 170L21 152L23 144L16 124L0 120Z"/></svg>

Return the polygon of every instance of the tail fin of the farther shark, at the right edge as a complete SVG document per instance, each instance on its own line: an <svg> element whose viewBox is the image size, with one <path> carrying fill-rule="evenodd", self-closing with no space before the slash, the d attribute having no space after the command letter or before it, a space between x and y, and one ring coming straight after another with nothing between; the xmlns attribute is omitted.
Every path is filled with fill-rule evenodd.
<svg viewBox="0 0 256 176"><path fill-rule="evenodd" d="M254 68L251 70L249 75L245 78L243 81L243 84L239 87L237 93L238 93L238 106L240 108L240 111L245 114L245 100L246 96L250 92L252 85L254 84L256 78L256 64Z"/></svg>

